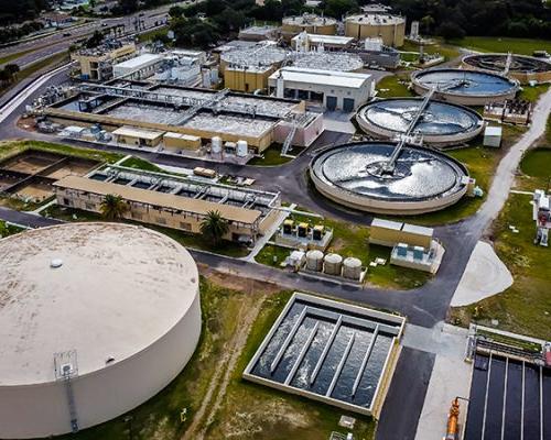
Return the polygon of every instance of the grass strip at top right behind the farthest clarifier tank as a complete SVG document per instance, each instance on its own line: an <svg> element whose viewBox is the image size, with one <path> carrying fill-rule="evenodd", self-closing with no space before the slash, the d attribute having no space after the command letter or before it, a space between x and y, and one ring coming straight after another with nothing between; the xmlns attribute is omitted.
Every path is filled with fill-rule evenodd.
<svg viewBox="0 0 551 440"><path fill-rule="evenodd" d="M477 52L512 52L519 55L532 55L533 51L551 52L551 41L549 40L466 36L462 40L454 40L451 43Z"/></svg>

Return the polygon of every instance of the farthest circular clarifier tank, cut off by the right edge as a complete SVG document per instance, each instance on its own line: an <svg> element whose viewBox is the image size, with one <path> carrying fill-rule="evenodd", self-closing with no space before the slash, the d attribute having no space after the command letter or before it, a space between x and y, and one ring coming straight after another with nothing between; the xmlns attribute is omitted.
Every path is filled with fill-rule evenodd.
<svg viewBox="0 0 551 440"><path fill-rule="evenodd" d="M522 84L534 80L537 82L551 81L551 63L548 59L533 56L508 54L467 55L463 58L463 67L488 73L501 74L509 64L508 76Z"/></svg>

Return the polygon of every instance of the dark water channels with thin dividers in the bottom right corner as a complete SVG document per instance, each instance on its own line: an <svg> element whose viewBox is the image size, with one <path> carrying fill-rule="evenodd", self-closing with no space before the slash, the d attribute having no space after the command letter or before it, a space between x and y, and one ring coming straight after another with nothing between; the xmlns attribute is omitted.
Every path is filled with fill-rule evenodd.
<svg viewBox="0 0 551 440"><path fill-rule="evenodd" d="M551 370L477 354L465 440L551 439Z"/></svg>

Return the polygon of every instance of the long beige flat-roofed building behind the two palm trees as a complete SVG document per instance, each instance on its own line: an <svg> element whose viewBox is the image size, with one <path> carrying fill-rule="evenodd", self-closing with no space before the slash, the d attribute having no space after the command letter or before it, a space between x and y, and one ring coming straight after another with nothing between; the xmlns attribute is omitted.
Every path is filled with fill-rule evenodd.
<svg viewBox="0 0 551 440"><path fill-rule="evenodd" d="M60 206L99 213L105 197L118 195L128 206L125 219L190 233L201 233L201 223L207 213L219 211L229 226L224 238L231 241L255 241L277 219L277 210L271 208L248 208L245 206L251 204L245 202L235 206L220 200L210 201L201 197L185 197L94 178L69 176L56 182L54 187ZM278 202L279 196L272 196Z"/></svg>

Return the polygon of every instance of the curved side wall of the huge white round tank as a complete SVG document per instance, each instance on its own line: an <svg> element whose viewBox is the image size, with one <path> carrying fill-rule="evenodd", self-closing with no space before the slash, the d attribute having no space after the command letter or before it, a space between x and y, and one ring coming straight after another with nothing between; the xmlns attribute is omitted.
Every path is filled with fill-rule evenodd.
<svg viewBox="0 0 551 440"><path fill-rule="evenodd" d="M79 428L110 420L153 397L184 369L199 336L201 299L197 286L196 297L185 316L162 338L120 363L73 381ZM0 386L0 438L48 437L69 431L63 383Z"/></svg>

